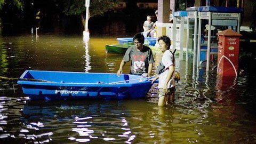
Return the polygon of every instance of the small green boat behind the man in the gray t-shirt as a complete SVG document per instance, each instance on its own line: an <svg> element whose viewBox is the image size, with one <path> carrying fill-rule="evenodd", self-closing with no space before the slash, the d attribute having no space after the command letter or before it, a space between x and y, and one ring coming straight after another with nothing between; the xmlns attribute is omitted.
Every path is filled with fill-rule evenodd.
<svg viewBox="0 0 256 144"><path fill-rule="evenodd" d="M128 42L128 43L122 43L122 44L115 44L115 45L105 45L106 48L106 53L125 53L126 50L133 46L134 43L133 42ZM149 41L145 39L144 44L145 46L149 45Z"/></svg>

